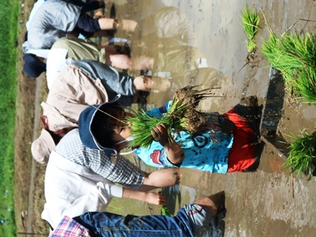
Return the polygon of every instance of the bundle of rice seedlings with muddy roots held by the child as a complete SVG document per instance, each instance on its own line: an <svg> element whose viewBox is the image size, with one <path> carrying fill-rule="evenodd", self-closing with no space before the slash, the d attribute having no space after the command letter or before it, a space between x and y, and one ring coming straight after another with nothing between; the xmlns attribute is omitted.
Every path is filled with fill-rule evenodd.
<svg viewBox="0 0 316 237"><path fill-rule="evenodd" d="M195 108L201 99L210 97L210 92L205 91L211 89L193 90L194 87L196 86L187 86L177 90L169 111L162 118L150 116L145 111L135 111L135 117L127 117L126 121L130 122L130 133L134 136L130 147L150 147L154 141L151 130L159 123L166 125L169 140L173 130L184 130L190 134L202 130L206 123L205 115L195 111Z"/></svg>

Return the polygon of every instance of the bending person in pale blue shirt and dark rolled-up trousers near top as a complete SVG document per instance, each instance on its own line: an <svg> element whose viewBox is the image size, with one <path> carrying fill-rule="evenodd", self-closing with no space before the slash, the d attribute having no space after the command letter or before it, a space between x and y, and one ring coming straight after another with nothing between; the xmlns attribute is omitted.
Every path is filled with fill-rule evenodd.
<svg viewBox="0 0 316 237"><path fill-rule="evenodd" d="M67 34L82 34L85 38L106 36L104 30L135 30L134 20L92 18L76 6L66 1L49 0L39 6L28 28L30 49L50 49L61 37Z"/></svg>

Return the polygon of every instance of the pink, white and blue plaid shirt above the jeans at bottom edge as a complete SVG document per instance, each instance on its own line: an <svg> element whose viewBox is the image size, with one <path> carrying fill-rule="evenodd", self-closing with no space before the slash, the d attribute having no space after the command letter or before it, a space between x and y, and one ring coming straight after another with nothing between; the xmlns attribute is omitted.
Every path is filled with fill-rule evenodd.
<svg viewBox="0 0 316 237"><path fill-rule="evenodd" d="M51 237L91 237L90 232L85 227L70 217L63 217L56 229L51 233Z"/></svg>

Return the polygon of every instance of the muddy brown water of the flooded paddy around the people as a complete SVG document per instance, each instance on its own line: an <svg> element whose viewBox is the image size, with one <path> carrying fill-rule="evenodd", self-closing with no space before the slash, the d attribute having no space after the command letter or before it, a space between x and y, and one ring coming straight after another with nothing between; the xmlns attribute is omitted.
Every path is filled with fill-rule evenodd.
<svg viewBox="0 0 316 237"><path fill-rule="evenodd" d="M269 30L284 32L293 26L315 30L315 1L251 1L261 16L258 34L267 38ZM116 14L138 20L139 28L129 35L133 59L147 56L154 59L152 75L166 75L171 88L154 90L147 108L160 106L172 98L176 89L185 85L212 90L214 98L203 101L203 111L224 112L241 98L257 95L264 104L269 85L269 63L260 51L247 65L245 34L241 28L241 10L245 1L116 1ZM267 24L263 18L267 19ZM314 17L314 18L313 18ZM135 72L135 75L138 72ZM303 128L315 128L315 107L284 102L279 133L298 134ZM147 171L147 166L130 159ZM181 185L164 190L169 209L176 211L187 202L219 190L226 192L225 236L315 236L315 178L305 181L287 175L281 169L284 159L278 150L265 145L259 169L252 174L208 174L182 169ZM124 204L122 204L124 203ZM159 214L159 208L142 202L114 200L111 211L133 214Z"/></svg>

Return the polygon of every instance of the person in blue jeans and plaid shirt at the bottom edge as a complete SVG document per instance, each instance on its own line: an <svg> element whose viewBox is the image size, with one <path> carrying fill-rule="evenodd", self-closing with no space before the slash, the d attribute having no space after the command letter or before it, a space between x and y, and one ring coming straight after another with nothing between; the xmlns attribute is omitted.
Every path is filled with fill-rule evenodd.
<svg viewBox="0 0 316 237"><path fill-rule="evenodd" d="M51 237L66 236L224 236L224 191L182 207L175 217L135 216L110 212L87 212L78 217L63 217Z"/></svg>

